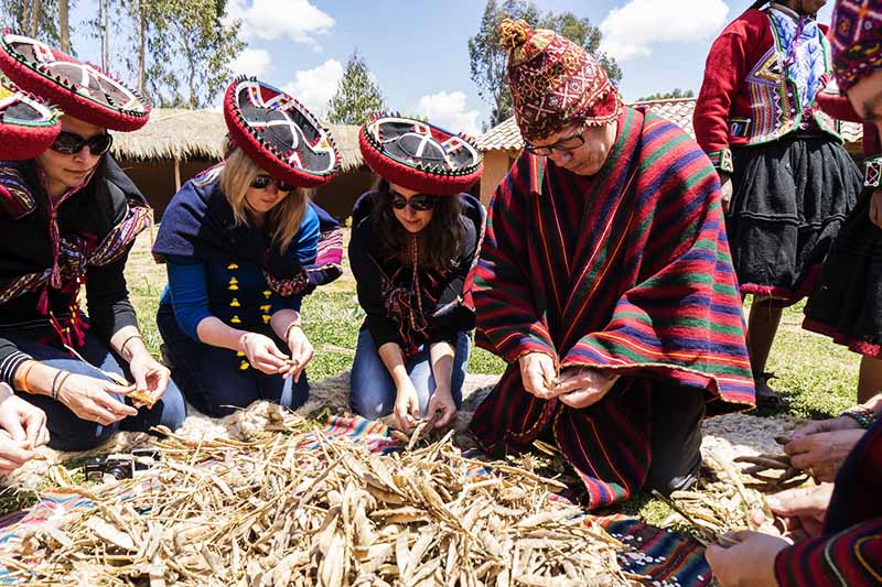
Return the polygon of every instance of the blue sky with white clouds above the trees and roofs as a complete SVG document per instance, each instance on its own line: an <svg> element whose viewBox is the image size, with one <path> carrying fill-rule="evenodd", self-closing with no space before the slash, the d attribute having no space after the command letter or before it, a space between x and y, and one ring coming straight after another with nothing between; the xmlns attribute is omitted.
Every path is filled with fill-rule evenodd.
<svg viewBox="0 0 882 587"><path fill-rule="evenodd" d="M710 43L751 0L536 3L601 25L603 47L623 69L622 94L634 100L675 87L698 91ZM232 69L288 89L321 115L357 47L390 109L477 132L491 106L470 79L466 43L484 7L484 0L229 0L248 43ZM826 7L821 22L829 22L829 12Z"/></svg>

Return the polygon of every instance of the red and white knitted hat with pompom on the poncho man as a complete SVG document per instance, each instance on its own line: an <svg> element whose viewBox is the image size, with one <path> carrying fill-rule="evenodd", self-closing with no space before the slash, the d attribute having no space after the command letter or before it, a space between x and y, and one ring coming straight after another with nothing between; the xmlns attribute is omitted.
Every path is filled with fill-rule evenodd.
<svg viewBox="0 0 882 587"><path fill-rule="evenodd" d="M508 85L526 140L539 141L582 121L605 124L622 111L606 72L566 36L506 19L499 43L508 50Z"/></svg>

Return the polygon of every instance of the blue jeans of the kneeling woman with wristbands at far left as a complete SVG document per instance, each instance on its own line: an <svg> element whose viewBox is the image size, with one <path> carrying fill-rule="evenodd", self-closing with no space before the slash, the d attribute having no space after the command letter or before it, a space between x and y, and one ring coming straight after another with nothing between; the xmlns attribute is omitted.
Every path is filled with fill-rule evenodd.
<svg viewBox="0 0 882 587"><path fill-rule="evenodd" d="M93 367L97 366L103 371L121 374L129 381L132 380L128 365L118 360L108 346L92 333L86 333L85 346L77 349L77 352L89 362L88 365L72 357L64 349L37 343L25 334L3 333L3 336L14 343L22 352L26 352L35 360L55 369L63 369L72 373L107 381L107 376ZM128 398L116 393L110 395L119 402L131 405L131 400ZM82 420L62 402L53 400L49 395L19 393L19 396L46 413L46 427L50 433L49 445L57 450L88 450L105 443L120 430L147 432L152 426L160 424L171 430L178 430L184 423L184 417L186 417L184 399L181 396L181 391L174 384L174 381L169 381L165 393L153 407L141 407L138 410L137 415L128 416L107 426L97 422Z"/></svg>

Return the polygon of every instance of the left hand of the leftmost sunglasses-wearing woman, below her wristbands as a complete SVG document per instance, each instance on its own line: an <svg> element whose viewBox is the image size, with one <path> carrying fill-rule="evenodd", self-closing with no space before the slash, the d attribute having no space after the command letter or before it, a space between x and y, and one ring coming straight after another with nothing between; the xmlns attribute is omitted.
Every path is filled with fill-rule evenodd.
<svg viewBox="0 0 882 587"><path fill-rule="evenodd" d="M61 382L57 391L58 401L69 407L77 417L104 426L138 414L138 410L131 405L120 403L110 396L111 393L128 395L135 390L104 379L72 373Z"/></svg>

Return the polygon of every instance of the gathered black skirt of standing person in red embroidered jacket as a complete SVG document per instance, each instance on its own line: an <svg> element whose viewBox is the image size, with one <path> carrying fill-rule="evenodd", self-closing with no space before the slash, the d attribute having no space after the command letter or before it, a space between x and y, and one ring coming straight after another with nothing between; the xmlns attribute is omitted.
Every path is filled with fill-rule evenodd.
<svg viewBox="0 0 882 587"><path fill-rule="evenodd" d="M829 135L792 133L732 154L725 228L741 292L793 304L811 292L863 177Z"/></svg>

